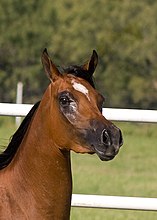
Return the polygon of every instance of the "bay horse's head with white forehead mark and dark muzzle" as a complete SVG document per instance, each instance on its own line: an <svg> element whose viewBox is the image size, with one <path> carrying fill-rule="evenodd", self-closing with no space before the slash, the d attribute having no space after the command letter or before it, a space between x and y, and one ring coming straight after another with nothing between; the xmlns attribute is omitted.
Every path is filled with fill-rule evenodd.
<svg viewBox="0 0 157 220"><path fill-rule="evenodd" d="M122 133L102 115L104 98L92 84L98 63L96 51L81 66L84 77L69 72L62 74L46 49L41 59L51 81L49 133L55 145L62 151L96 153L103 161L113 159L123 143Z"/></svg>

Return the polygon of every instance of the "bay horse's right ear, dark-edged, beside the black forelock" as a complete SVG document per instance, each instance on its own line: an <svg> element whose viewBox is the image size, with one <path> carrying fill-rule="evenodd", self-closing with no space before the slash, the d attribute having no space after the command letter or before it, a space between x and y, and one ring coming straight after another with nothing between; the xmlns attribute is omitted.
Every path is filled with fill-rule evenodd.
<svg viewBox="0 0 157 220"><path fill-rule="evenodd" d="M97 64L98 64L98 54L95 50L93 50L93 54L90 60L83 65L83 69L87 70L91 75L93 75Z"/></svg>

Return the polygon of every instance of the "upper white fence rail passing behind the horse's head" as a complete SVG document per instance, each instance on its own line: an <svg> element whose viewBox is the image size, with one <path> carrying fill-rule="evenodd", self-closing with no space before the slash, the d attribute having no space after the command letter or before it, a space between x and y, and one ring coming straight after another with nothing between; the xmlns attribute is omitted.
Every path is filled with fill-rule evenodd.
<svg viewBox="0 0 157 220"><path fill-rule="evenodd" d="M29 104L0 103L0 115L25 116L31 108ZM157 110L103 108L103 115L113 121L157 122Z"/></svg>

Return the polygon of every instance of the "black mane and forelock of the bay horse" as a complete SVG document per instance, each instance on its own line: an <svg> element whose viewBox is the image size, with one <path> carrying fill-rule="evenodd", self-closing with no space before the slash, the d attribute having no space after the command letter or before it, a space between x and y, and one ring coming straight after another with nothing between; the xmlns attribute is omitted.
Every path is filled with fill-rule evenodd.
<svg viewBox="0 0 157 220"><path fill-rule="evenodd" d="M70 66L66 69L64 69L64 72L67 74L72 74L74 76L80 77L90 83L90 85L95 88L93 78L91 74L88 71L83 70L81 66ZM24 120L22 121L21 125L17 129L17 131L14 133L14 135L11 138L11 141L6 148L6 150L0 154L0 170L7 167L8 164L12 161L13 157L15 156L25 134L28 129L28 126L31 122L31 119L36 112L38 106L40 104L40 101L37 102L32 109L29 111L29 113L26 115Z"/></svg>

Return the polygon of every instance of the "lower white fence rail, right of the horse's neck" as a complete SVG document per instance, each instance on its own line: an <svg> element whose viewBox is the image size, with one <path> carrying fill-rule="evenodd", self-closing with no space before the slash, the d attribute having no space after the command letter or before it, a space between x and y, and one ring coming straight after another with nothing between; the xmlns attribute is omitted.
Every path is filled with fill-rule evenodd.
<svg viewBox="0 0 157 220"><path fill-rule="evenodd" d="M72 206L82 208L157 211L157 198L73 194Z"/></svg>

